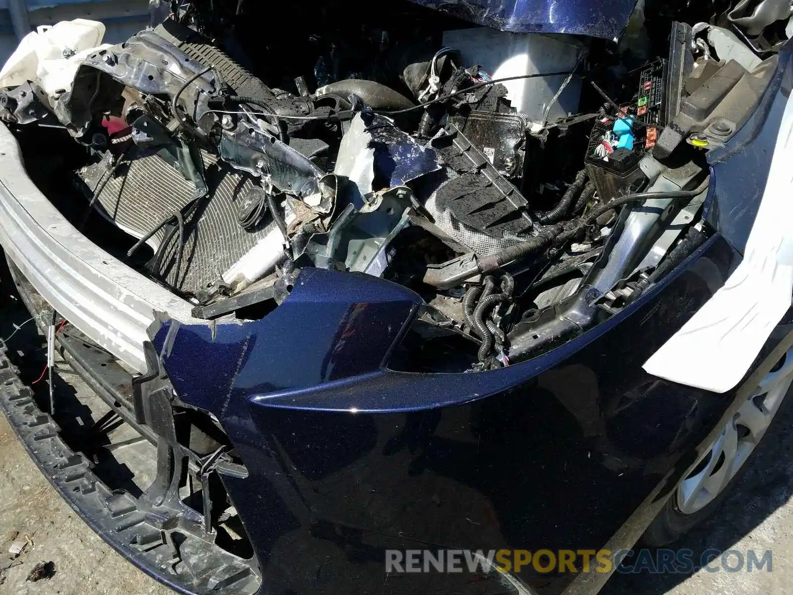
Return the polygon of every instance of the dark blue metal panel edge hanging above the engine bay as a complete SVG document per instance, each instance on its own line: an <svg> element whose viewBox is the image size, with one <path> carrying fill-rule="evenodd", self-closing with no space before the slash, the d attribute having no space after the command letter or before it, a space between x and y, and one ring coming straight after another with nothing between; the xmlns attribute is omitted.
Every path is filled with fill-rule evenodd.
<svg viewBox="0 0 793 595"><path fill-rule="evenodd" d="M511 33L569 33L613 39L636 0L412 0L454 17Z"/></svg>

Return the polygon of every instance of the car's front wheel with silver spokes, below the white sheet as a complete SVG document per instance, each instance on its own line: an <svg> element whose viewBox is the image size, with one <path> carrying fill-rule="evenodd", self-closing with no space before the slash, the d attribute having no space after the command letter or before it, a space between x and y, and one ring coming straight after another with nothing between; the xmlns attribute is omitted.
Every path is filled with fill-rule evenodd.
<svg viewBox="0 0 793 595"><path fill-rule="evenodd" d="M640 539L648 547L675 542L722 505L752 465L757 444L783 407L793 383L793 349L766 374L721 434L680 479Z"/></svg>

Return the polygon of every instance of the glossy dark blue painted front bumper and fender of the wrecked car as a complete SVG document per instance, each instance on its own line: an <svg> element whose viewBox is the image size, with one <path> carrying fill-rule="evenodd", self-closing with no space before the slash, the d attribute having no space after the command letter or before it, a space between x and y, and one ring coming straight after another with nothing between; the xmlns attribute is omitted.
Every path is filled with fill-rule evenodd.
<svg viewBox="0 0 793 595"><path fill-rule="evenodd" d="M789 57L768 114L789 96ZM598 549L629 517L646 526L741 390L675 385L642 364L740 262L728 201L742 197L753 213L760 193L752 176L729 178L734 188L722 176L742 159L765 163L746 153L770 159L779 122L760 116L756 134L714 159L719 232L623 313L525 363L480 374L386 370L418 296L330 271L304 271L262 321L164 324L155 345L179 397L216 415L250 472L224 482L266 593L508 592L498 576L384 580L383 550ZM770 351L787 347L791 330L788 316L758 366L772 366ZM573 578L521 574L542 595Z"/></svg>

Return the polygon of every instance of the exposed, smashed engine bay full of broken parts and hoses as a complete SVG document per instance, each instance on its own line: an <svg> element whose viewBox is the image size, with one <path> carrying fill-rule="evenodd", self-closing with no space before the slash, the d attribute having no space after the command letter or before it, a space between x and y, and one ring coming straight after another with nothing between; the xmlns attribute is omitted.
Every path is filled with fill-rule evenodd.
<svg viewBox="0 0 793 595"><path fill-rule="evenodd" d="M756 108L791 6L699 4L639 2L603 40L408 0L297 0L266 28L253 0L152 0L123 44L93 21L23 41L0 117L53 204L194 316L266 316L305 267L370 274L424 301L390 367L490 370L711 233L707 152Z"/></svg>

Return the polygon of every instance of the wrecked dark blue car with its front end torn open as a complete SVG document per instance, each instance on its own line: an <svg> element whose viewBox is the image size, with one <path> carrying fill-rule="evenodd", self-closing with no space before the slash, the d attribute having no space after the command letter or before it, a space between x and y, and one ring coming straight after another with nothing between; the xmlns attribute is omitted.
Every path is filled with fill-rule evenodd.
<svg viewBox="0 0 793 595"><path fill-rule="evenodd" d="M0 71L0 244L94 433L5 344L0 405L112 547L182 593L596 593L386 552L718 509L793 382L790 2L150 8Z"/></svg>

